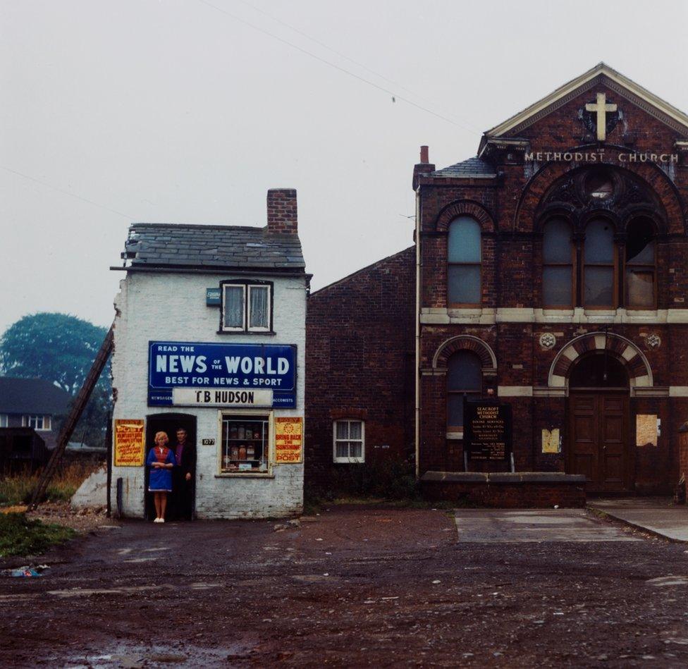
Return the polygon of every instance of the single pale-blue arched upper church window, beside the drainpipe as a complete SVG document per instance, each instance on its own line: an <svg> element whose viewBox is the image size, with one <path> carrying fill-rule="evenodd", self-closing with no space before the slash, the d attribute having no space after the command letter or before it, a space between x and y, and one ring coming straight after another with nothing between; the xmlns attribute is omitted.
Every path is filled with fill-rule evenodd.
<svg viewBox="0 0 688 669"><path fill-rule="evenodd" d="M447 302L450 307L480 305L480 225L468 216L449 224L447 241Z"/></svg>

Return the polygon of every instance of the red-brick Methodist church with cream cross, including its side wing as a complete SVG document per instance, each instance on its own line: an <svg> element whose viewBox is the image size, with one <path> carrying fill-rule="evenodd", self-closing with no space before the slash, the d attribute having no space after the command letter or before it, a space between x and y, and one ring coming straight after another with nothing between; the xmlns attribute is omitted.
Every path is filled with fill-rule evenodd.
<svg viewBox="0 0 688 669"><path fill-rule="evenodd" d="M688 116L600 63L473 158L436 170L423 147L413 188L414 247L309 297L307 478L410 456L444 492L455 472L511 469L672 491ZM513 462L465 457L465 398L511 406Z"/></svg>

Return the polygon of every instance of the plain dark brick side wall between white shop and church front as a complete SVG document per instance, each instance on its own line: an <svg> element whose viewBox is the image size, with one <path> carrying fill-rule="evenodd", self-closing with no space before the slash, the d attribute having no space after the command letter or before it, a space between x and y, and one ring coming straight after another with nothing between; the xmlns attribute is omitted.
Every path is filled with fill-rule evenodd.
<svg viewBox="0 0 688 669"><path fill-rule="evenodd" d="M333 421L365 422L365 466L414 450L415 250L406 249L309 296L306 318L306 479L327 488Z"/></svg>

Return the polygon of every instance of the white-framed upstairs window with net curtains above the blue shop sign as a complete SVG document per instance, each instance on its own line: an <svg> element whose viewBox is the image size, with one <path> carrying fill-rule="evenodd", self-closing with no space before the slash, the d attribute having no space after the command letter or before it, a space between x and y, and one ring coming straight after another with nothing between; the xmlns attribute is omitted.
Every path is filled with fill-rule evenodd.
<svg viewBox="0 0 688 669"><path fill-rule="evenodd" d="M272 284L267 281L223 281L221 332L270 332Z"/></svg>

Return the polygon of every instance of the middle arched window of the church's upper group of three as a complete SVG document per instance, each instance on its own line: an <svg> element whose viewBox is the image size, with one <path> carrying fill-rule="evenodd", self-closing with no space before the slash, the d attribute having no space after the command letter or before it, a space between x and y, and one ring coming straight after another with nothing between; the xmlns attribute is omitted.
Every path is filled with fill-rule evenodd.
<svg viewBox="0 0 688 669"><path fill-rule="evenodd" d="M614 307L614 229L606 219L585 228L583 245L583 306Z"/></svg>

